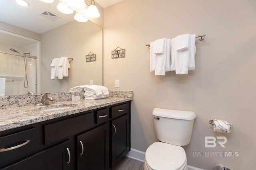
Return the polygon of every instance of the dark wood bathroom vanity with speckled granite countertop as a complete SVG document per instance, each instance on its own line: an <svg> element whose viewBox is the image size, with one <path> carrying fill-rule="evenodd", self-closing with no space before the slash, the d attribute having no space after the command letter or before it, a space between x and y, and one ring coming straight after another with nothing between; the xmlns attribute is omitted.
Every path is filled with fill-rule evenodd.
<svg viewBox="0 0 256 170"><path fill-rule="evenodd" d="M112 97L0 109L4 115L17 112L16 122L11 113L11 122L0 121L0 169L113 168L130 150L131 100ZM19 117L23 112L27 116Z"/></svg>

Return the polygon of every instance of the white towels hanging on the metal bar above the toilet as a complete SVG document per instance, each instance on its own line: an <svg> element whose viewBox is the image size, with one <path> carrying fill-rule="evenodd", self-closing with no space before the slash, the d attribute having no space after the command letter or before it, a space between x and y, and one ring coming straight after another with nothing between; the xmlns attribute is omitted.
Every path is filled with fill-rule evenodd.
<svg viewBox="0 0 256 170"><path fill-rule="evenodd" d="M186 75L188 70L195 70L195 54L195 34L158 39L150 43L150 72L156 76L164 76L167 71Z"/></svg>

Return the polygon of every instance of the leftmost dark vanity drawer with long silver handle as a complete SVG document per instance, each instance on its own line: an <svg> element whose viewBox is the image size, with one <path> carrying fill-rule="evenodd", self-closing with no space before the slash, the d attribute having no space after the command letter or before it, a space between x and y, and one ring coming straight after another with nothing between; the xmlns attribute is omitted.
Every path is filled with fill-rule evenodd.
<svg viewBox="0 0 256 170"><path fill-rule="evenodd" d="M0 137L0 168L32 154L35 147L35 128Z"/></svg>

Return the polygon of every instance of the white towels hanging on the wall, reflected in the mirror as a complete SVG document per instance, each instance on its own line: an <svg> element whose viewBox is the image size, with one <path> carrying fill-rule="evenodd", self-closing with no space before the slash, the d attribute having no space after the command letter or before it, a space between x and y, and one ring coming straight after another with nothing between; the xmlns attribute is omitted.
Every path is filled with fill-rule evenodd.
<svg viewBox="0 0 256 170"><path fill-rule="evenodd" d="M68 76L68 69L70 68L70 60L68 57L55 58L51 64L51 79L63 79Z"/></svg>

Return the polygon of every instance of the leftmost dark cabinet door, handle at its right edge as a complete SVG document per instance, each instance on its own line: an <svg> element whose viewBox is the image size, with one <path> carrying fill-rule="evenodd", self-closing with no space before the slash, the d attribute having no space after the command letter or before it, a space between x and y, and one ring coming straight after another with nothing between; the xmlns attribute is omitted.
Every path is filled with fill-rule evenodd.
<svg viewBox="0 0 256 170"><path fill-rule="evenodd" d="M3 170L70 170L71 142L65 141L55 147L43 150Z"/></svg>

